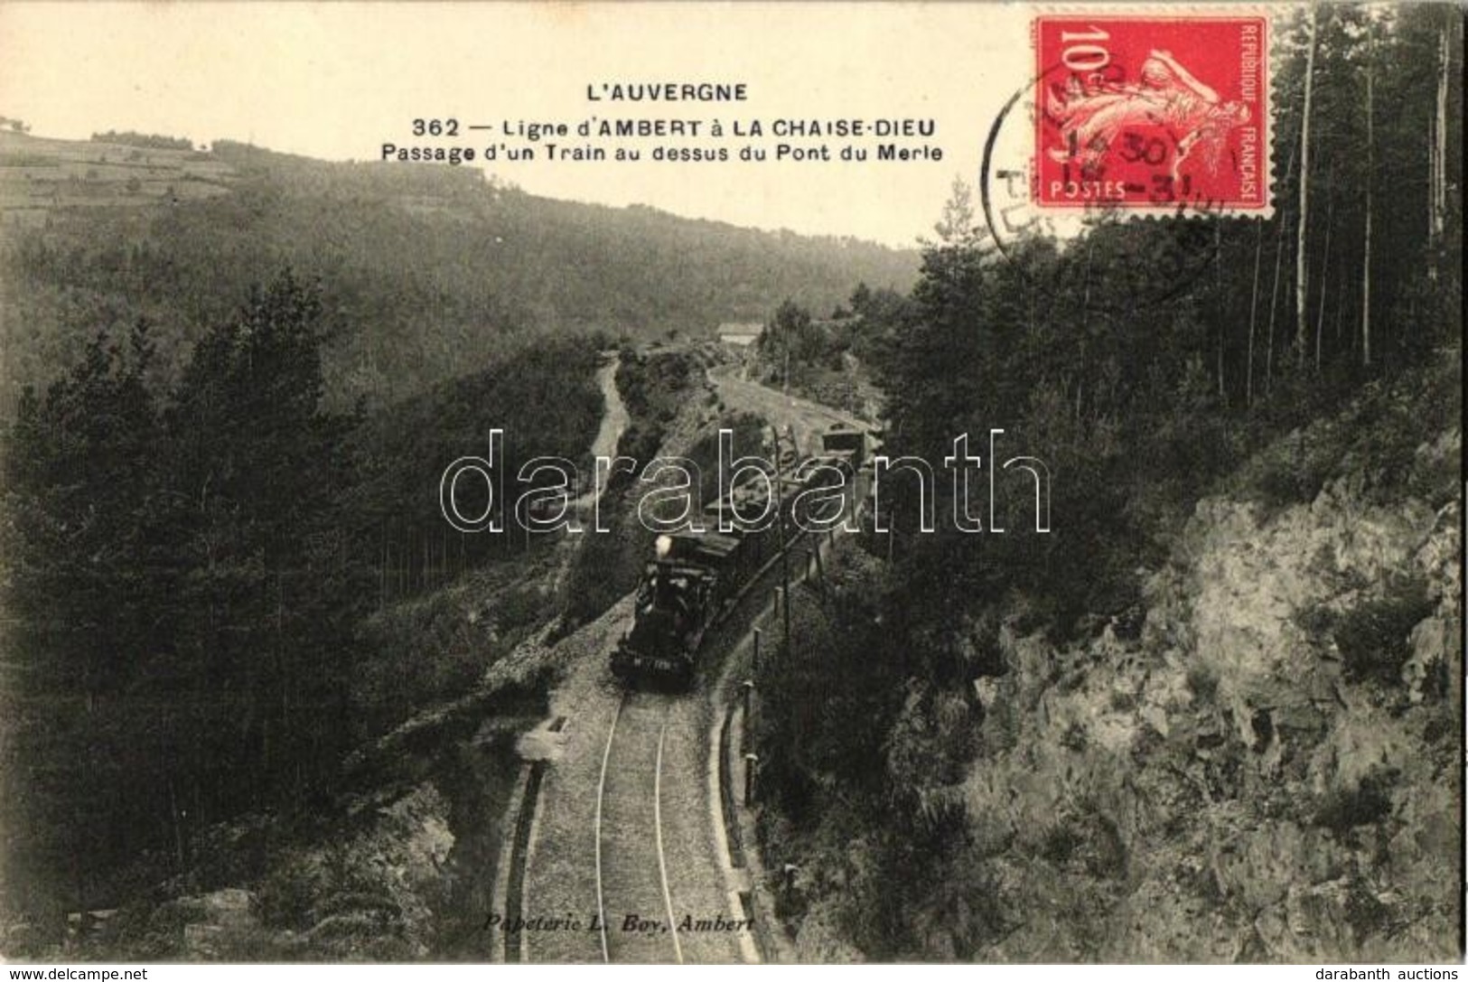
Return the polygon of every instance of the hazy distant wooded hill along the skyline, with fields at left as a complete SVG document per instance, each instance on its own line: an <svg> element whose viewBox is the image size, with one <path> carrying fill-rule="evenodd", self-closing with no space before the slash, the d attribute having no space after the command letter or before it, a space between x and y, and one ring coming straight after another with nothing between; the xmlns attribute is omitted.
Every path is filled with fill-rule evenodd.
<svg viewBox="0 0 1468 982"><path fill-rule="evenodd" d="M336 405L404 398L548 335L700 336L787 295L828 308L916 272L916 252L537 198L476 170L97 139L0 142L4 412L94 330L139 316L153 371L175 377L200 324L283 264L321 283Z"/></svg>

